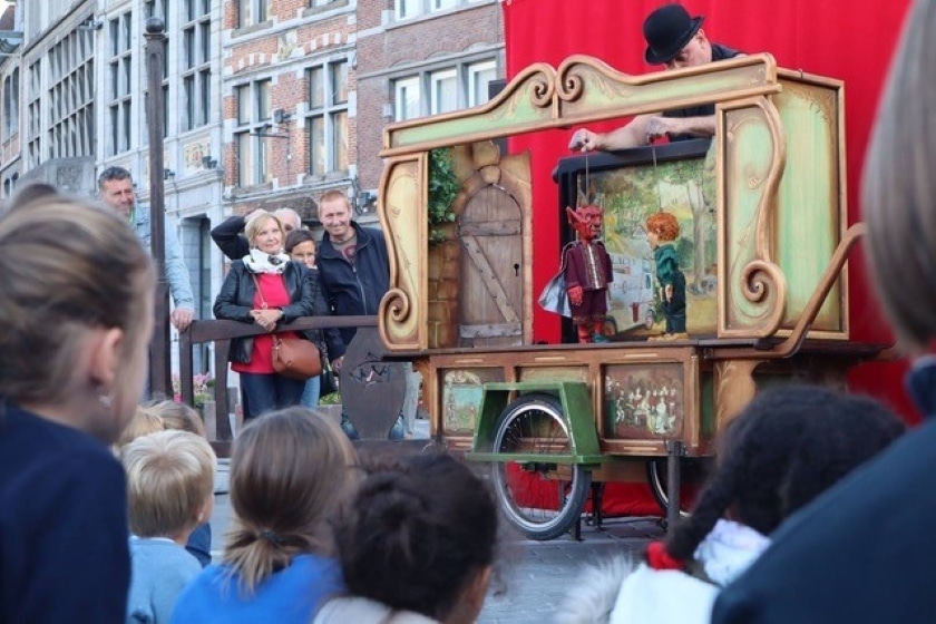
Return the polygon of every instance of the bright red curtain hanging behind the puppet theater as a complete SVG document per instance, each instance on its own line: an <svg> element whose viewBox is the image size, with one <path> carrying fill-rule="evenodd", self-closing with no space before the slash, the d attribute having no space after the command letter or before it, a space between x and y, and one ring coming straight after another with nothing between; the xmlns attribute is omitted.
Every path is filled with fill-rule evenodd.
<svg viewBox="0 0 936 624"><path fill-rule="evenodd" d="M643 59L644 18L661 0L501 0L507 43L507 77L536 61L556 67L573 53L598 57L621 71L659 70ZM705 16L711 41L745 52L767 51L780 67L845 81L849 221L859 220L859 179L878 97L899 37L908 0L867 0L860 4L815 0L686 0L692 13ZM860 7L860 8L859 8ZM595 125L608 129L620 123ZM567 156L572 130L514 137L511 152L530 150L534 202L534 292L558 267L559 223L552 170ZM872 301L864 259L852 255L850 322L856 340L889 341ZM537 310L534 339L556 342L558 318ZM903 364L866 364L851 377L856 389L889 400L916 418L903 392Z"/></svg>

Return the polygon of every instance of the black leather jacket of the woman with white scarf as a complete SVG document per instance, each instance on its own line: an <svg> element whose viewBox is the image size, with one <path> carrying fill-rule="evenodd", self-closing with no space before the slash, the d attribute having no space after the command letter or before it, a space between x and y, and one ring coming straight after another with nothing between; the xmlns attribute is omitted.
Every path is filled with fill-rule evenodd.
<svg viewBox="0 0 936 624"><path fill-rule="evenodd" d="M290 261L283 272L283 280L286 284L286 291L290 293L290 305L282 308L283 318L280 322L287 323L294 321L300 316L325 316L328 315L328 306L325 300L319 292L319 281L314 276L314 272L305 267L301 262ZM254 309L254 296L256 295L256 284L254 283L252 273L244 265L244 262L236 260L231 264L231 271L224 283L221 285L221 292L217 293L214 304L214 315L216 319L224 319L228 321L240 321L242 323L253 323L251 310ZM322 340L322 332L319 330L308 330L303 332L305 338L319 344L319 349L324 354L324 343ZM338 340L338 332L335 330L325 330L328 341ZM247 363L251 361L251 353L253 351L253 338L238 338L231 341L231 354L228 360L232 362Z"/></svg>

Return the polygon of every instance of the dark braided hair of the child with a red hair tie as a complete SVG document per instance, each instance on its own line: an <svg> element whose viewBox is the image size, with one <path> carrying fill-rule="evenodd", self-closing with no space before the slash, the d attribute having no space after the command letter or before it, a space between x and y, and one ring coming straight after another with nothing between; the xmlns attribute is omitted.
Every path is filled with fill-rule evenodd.
<svg viewBox="0 0 936 624"><path fill-rule="evenodd" d="M772 533L905 429L867 397L813 386L760 392L727 428L718 465L692 515L666 537L666 555L692 558L729 509L739 523Z"/></svg>

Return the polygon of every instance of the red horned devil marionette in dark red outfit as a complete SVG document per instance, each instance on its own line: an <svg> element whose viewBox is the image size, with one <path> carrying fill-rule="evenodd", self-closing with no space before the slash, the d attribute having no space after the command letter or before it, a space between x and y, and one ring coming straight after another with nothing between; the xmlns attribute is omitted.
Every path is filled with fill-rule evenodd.
<svg viewBox="0 0 936 624"><path fill-rule="evenodd" d="M578 342L606 342L602 335L607 314L607 286L613 281L611 256L598 241L602 234L602 208L595 205L566 207L568 223L578 241L565 251L565 281L572 322Z"/></svg>

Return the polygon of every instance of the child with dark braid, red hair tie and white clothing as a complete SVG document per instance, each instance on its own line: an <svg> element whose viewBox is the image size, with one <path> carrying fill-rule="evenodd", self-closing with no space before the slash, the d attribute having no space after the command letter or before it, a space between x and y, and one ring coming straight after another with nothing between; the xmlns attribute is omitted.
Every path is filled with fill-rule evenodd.
<svg viewBox="0 0 936 624"><path fill-rule="evenodd" d="M720 588L784 518L904 431L869 398L813 386L759 393L727 428L692 515L650 545L645 564L587 571L591 588L572 592L556 622L708 622Z"/></svg>

